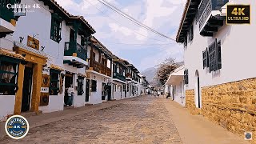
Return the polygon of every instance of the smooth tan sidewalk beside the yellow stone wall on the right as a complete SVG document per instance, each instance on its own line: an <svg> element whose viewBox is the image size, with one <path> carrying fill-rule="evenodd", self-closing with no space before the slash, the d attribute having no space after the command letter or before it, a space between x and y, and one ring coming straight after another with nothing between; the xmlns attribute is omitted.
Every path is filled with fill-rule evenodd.
<svg viewBox="0 0 256 144"><path fill-rule="evenodd" d="M191 115L186 108L170 99L161 98L170 113L184 144L246 144L238 135L200 115Z"/></svg>

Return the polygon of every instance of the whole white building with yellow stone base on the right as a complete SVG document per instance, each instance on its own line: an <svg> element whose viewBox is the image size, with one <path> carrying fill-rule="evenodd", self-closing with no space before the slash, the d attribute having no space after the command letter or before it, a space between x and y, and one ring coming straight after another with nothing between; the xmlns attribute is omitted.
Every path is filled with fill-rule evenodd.
<svg viewBox="0 0 256 144"><path fill-rule="evenodd" d="M250 24L227 25L227 5L250 5ZM251 0L188 0L176 38L184 45L187 108L241 135L255 128L255 7Z"/></svg>

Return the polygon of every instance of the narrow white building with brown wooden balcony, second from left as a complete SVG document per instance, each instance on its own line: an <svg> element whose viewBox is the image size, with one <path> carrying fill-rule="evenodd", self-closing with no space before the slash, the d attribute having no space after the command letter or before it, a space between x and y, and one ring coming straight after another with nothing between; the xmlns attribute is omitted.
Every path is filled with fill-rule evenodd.
<svg viewBox="0 0 256 144"><path fill-rule="evenodd" d="M90 38L86 103L98 104L112 97L112 61L114 55L96 38Z"/></svg>

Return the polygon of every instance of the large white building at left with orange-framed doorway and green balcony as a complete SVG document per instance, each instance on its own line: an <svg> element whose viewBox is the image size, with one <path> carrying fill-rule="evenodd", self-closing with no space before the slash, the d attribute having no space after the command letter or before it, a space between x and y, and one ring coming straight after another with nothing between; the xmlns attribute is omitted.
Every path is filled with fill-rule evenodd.
<svg viewBox="0 0 256 144"><path fill-rule="evenodd" d="M70 86L74 87L70 105L84 106L86 39L95 30L84 18L67 13L54 1L17 2L39 4L40 8L16 18L14 10L1 7L0 99L5 105L0 105L0 119L27 111L63 110Z"/></svg>

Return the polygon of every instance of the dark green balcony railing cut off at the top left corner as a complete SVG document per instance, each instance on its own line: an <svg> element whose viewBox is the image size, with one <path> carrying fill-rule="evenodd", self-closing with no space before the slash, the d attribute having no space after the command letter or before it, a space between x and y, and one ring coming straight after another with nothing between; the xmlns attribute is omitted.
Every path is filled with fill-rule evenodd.
<svg viewBox="0 0 256 144"><path fill-rule="evenodd" d="M0 18L10 22L14 19L14 9L8 9L7 4L14 5L16 0L0 0Z"/></svg>

